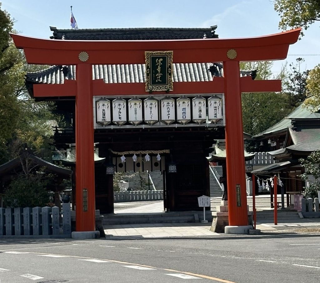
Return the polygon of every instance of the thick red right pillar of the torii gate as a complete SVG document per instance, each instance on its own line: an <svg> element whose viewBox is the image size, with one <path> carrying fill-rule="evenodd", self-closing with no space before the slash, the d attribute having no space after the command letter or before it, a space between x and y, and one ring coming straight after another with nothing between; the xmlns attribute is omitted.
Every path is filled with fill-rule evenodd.
<svg viewBox="0 0 320 283"><path fill-rule="evenodd" d="M229 225L248 225L244 143L238 61L223 62Z"/></svg>

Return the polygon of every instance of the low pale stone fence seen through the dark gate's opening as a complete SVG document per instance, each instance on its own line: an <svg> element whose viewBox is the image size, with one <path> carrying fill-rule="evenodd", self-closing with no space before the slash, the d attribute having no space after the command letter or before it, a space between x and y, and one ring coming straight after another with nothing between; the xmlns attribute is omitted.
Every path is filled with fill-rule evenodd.
<svg viewBox="0 0 320 283"><path fill-rule="evenodd" d="M163 200L163 190L114 192L114 202Z"/></svg>

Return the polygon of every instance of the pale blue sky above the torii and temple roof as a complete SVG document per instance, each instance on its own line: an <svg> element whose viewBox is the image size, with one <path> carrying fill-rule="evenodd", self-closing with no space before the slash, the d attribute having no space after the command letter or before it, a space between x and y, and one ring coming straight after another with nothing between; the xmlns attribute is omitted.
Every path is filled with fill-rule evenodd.
<svg viewBox="0 0 320 283"><path fill-rule="evenodd" d="M1 0L0 0L1 1ZM279 32L280 17L270 0L118 0L34 1L2 0L2 8L16 20L24 35L49 38L49 26L70 27L70 5L79 28L176 27L204 28L218 25L220 38L250 37ZM301 70L320 63L320 27L315 23L298 43L289 48L288 63L302 57ZM297 54L297 55L295 55ZM276 75L285 61L274 64Z"/></svg>

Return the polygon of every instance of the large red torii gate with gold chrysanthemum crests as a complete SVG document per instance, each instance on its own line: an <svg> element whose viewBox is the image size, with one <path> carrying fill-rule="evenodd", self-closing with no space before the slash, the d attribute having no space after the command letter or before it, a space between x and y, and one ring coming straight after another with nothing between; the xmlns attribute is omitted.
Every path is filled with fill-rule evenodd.
<svg viewBox="0 0 320 283"><path fill-rule="evenodd" d="M224 77L215 77L210 82L176 82L167 95L225 94L229 225L244 226L248 225L248 213L241 92L281 91L281 81L240 78L239 62L285 59L300 30L252 38L150 41L68 41L11 34L29 64L76 65L75 81L34 85L36 97L76 97L76 231L95 230L92 96L145 93L144 83L107 84L92 80L93 64L143 64L145 51L174 51L174 63L223 62ZM83 206L84 189L87 189L87 210Z"/></svg>

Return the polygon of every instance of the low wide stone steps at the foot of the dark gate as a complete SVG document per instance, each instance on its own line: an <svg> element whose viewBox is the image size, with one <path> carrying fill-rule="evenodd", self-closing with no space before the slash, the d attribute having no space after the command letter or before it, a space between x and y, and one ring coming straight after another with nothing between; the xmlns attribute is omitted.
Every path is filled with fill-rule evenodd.
<svg viewBox="0 0 320 283"><path fill-rule="evenodd" d="M206 211L205 218L212 222L212 212ZM155 224L155 223L196 223L203 220L203 211L159 212L159 213L118 213L105 214L102 225Z"/></svg>

